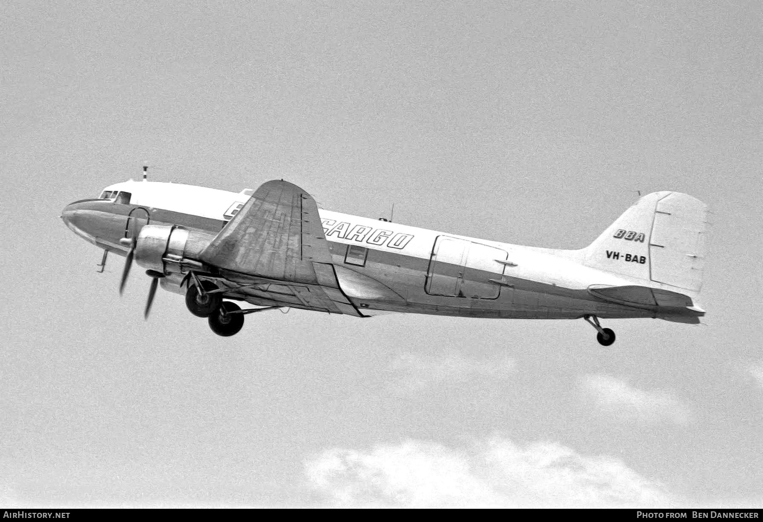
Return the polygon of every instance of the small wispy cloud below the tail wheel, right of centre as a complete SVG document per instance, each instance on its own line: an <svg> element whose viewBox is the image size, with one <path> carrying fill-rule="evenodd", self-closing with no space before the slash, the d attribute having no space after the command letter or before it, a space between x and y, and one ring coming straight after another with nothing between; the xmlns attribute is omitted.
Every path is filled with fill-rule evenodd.
<svg viewBox="0 0 763 522"><path fill-rule="evenodd" d="M691 410L667 391L643 391L610 375L587 375L581 389L606 414L623 421L689 424Z"/></svg>

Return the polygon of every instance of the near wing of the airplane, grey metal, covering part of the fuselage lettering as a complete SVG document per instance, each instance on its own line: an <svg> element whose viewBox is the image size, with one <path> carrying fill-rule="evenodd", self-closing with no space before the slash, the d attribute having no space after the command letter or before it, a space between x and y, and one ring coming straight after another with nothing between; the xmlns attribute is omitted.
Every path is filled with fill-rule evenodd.
<svg viewBox="0 0 763 522"><path fill-rule="evenodd" d="M309 308L362 317L336 279L315 200L289 182L260 185L200 257L237 278L283 282Z"/></svg>

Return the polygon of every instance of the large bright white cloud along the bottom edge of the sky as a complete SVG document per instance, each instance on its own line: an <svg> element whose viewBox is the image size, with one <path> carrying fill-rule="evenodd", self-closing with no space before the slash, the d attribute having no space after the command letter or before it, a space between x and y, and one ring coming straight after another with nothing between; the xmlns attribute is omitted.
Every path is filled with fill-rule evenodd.
<svg viewBox="0 0 763 522"><path fill-rule="evenodd" d="M306 463L311 486L338 506L650 507L661 485L616 459L555 443L494 437L465 451L408 441L369 452L330 449Z"/></svg>

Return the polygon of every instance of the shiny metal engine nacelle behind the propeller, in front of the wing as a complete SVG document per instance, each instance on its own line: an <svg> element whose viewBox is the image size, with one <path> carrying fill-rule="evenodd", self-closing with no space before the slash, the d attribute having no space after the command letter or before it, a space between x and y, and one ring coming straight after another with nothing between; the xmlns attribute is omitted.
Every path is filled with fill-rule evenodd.
<svg viewBox="0 0 763 522"><path fill-rule="evenodd" d="M212 234L177 225L147 224L135 243L135 263L164 275L204 269L197 259L213 239Z"/></svg>

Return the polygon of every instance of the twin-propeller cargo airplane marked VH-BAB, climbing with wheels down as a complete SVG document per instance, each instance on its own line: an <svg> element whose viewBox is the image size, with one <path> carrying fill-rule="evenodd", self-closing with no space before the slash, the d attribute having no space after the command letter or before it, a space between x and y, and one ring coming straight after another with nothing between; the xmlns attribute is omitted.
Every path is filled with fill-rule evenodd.
<svg viewBox="0 0 763 522"><path fill-rule="evenodd" d="M707 206L681 192L639 198L589 246L559 250L481 240L319 209L290 182L241 192L143 180L66 205L69 229L124 256L227 337L244 315L278 308L372 317L601 319L697 324ZM241 308L237 302L253 305Z"/></svg>

